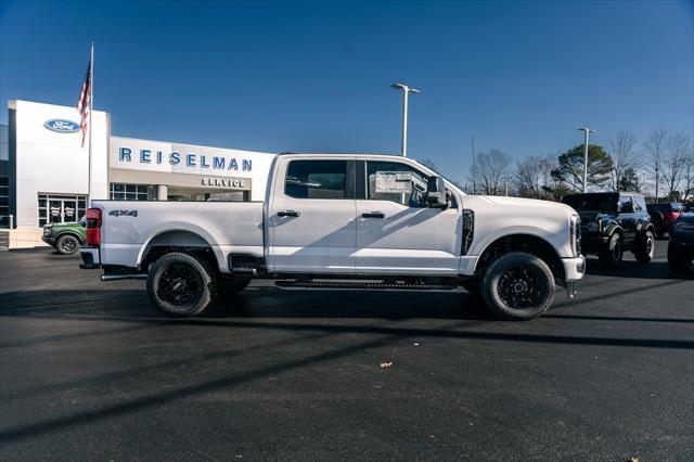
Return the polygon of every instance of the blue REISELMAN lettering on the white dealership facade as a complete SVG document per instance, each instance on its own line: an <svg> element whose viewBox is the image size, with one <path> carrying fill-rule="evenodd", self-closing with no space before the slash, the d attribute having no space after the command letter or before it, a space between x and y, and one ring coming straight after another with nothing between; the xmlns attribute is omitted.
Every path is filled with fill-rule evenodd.
<svg viewBox="0 0 694 462"><path fill-rule="evenodd" d="M165 164L190 168L211 168L218 170L252 171L253 161L248 158L236 159L221 155L208 155L196 153L179 153L177 151L164 153L164 151L140 150L134 153L130 147L118 150L119 162L139 162L140 164Z"/></svg>

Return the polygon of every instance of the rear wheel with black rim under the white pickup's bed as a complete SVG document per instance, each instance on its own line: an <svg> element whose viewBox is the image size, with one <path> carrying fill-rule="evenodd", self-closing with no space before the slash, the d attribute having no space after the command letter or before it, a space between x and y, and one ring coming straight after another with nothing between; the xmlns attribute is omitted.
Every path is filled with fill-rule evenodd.
<svg viewBox="0 0 694 462"><path fill-rule="evenodd" d="M167 316L191 317L207 308L215 282L205 261L175 252L150 265L147 296L152 305Z"/></svg>

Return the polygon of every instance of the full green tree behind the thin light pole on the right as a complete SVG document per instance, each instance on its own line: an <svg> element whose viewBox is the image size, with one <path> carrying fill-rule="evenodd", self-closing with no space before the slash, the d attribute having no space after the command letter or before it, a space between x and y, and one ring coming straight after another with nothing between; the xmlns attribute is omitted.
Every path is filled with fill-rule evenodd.
<svg viewBox="0 0 694 462"><path fill-rule="evenodd" d="M558 168L552 178L567 183L576 191L583 190L583 144L579 144L560 155ZM588 185L604 188L609 181L614 163L609 154L599 144L588 145Z"/></svg>

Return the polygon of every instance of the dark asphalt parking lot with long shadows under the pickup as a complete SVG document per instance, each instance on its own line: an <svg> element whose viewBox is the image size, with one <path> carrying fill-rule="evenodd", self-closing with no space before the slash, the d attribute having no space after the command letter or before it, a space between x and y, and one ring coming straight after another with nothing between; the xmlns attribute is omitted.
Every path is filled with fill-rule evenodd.
<svg viewBox="0 0 694 462"><path fill-rule="evenodd" d="M691 461L694 280L666 244L589 259L525 323L462 290L270 282L174 320L143 282L3 252L0 459Z"/></svg>

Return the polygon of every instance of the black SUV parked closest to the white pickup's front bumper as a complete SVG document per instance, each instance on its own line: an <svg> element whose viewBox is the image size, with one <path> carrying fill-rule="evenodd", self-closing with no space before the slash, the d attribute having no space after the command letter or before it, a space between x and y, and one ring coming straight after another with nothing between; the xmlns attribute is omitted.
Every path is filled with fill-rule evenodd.
<svg viewBox="0 0 694 462"><path fill-rule="evenodd" d="M583 255L596 254L605 268L617 267L625 251L633 252L642 264L653 259L655 228L643 194L569 194L562 202L581 218Z"/></svg>

